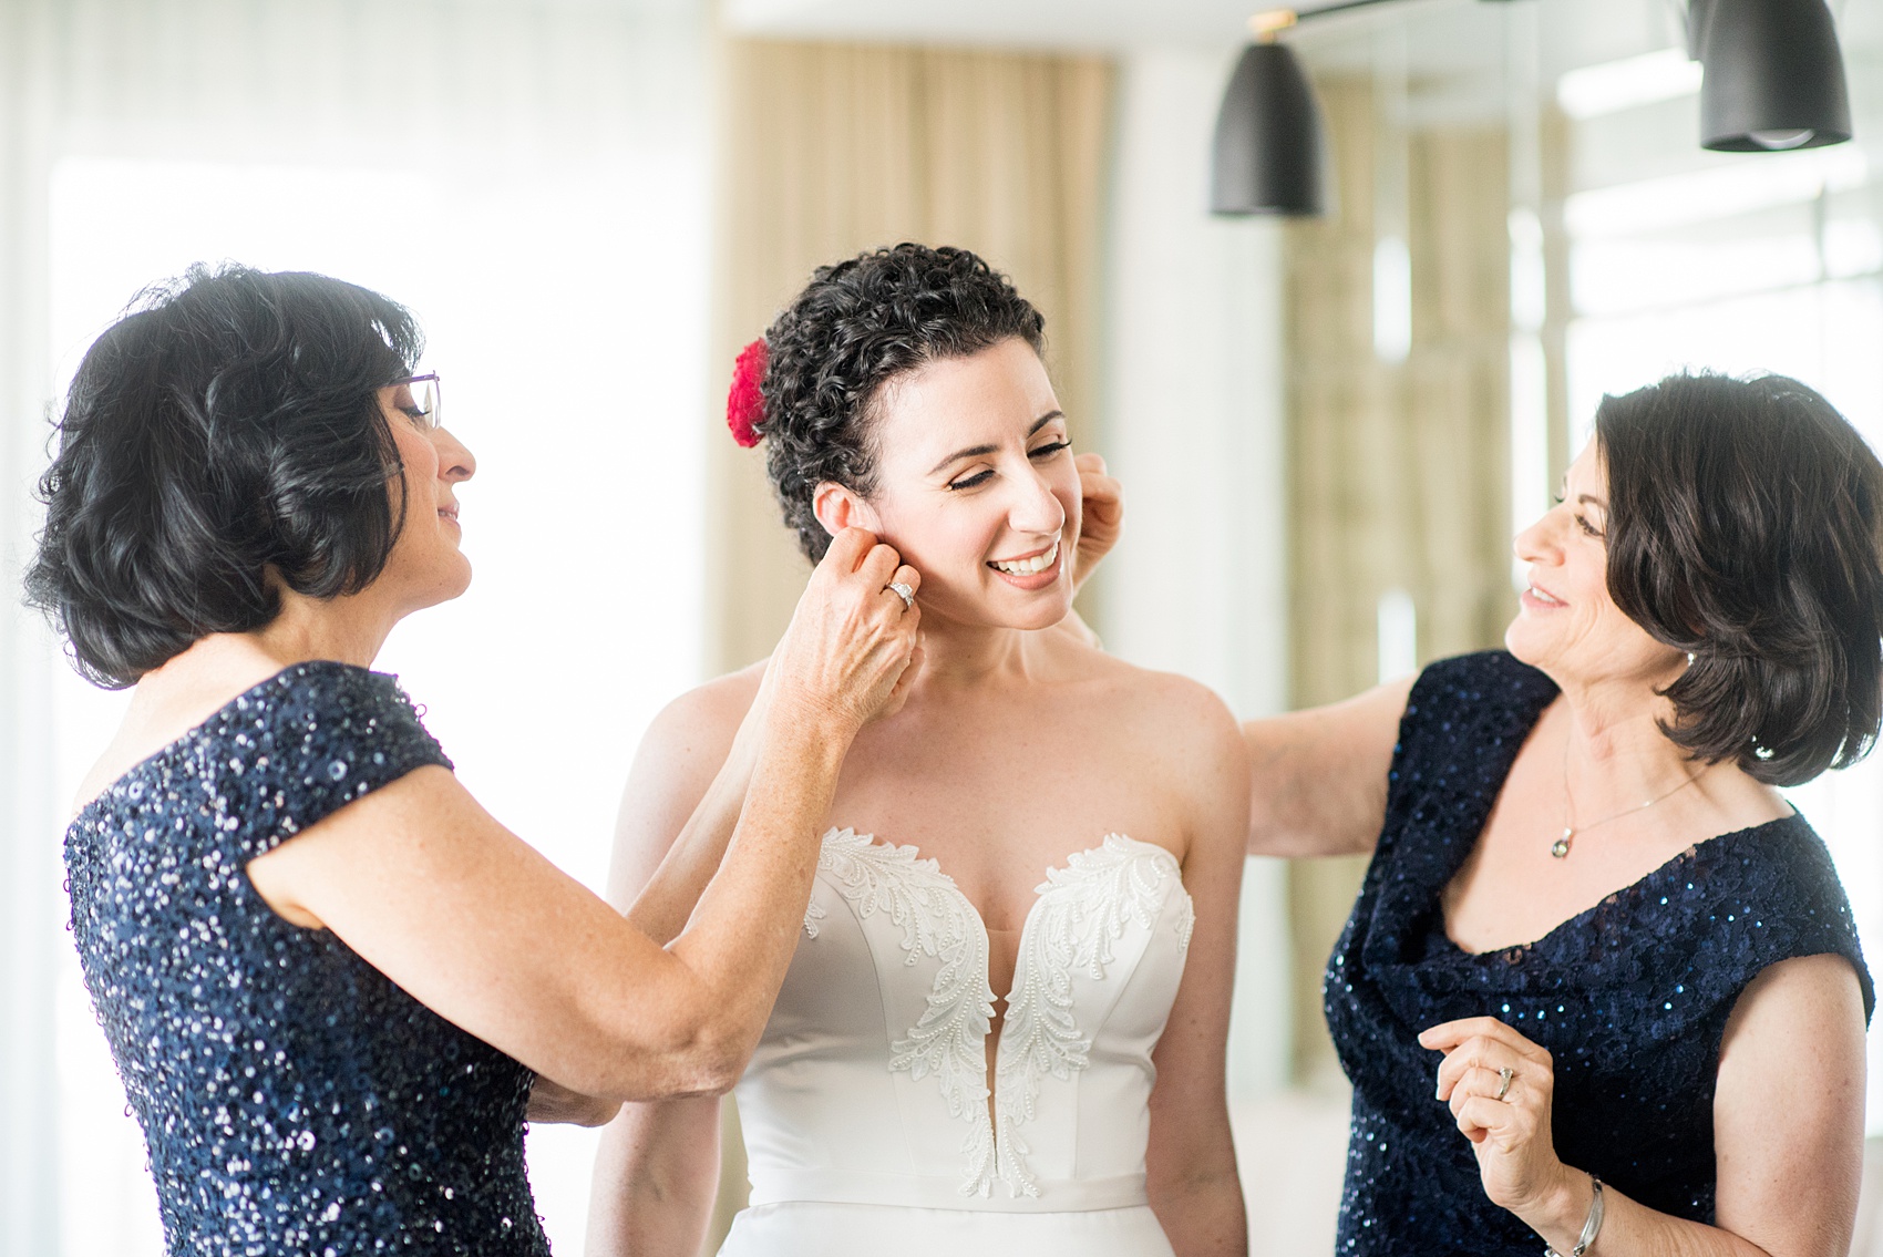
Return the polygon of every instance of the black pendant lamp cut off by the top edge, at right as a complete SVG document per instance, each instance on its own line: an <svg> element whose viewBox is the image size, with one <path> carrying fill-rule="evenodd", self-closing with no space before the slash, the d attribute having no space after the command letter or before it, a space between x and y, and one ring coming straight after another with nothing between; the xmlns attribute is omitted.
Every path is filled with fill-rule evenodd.
<svg viewBox="0 0 1883 1257"><path fill-rule="evenodd" d="M1770 152L1851 137L1838 30L1825 0L1691 0L1700 147Z"/></svg>

